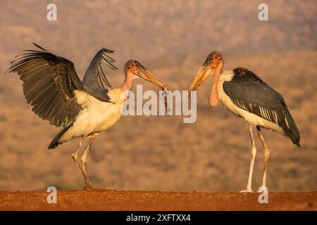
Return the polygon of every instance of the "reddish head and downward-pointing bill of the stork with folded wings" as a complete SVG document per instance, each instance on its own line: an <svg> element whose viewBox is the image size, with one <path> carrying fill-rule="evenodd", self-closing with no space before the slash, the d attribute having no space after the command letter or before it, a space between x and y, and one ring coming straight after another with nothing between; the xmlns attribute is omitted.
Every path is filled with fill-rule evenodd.
<svg viewBox="0 0 317 225"><path fill-rule="evenodd" d="M204 61L203 65L197 72L197 75L194 77L192 84L189 87L189 95L190 91L195 91L198 89L200 84L204 82L205 79L210 77L211 75L215 75L216 68L222 68L223 66L223 56L220 55L220 52L213 51L211 52L206 60Z"/></svg>

